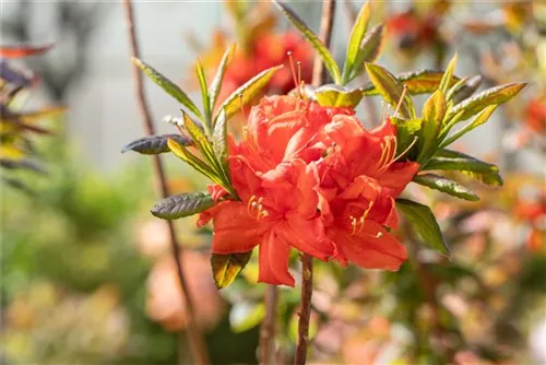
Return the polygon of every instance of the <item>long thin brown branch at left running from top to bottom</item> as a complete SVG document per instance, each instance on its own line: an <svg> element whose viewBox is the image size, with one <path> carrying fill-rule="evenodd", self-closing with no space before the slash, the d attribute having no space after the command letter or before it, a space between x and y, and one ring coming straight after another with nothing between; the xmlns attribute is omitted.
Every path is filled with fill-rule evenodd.
<svg viewBox="0 0 546 365"><path fill-rule="evenodd" d="M126 12L126 22L129 33L129 42L131 56L134 58L140 57L139 44L136 40L136 34L134 30L134 15L131 0L122 0L123 9ZM136 66L133 66L133 79L134 79L134 87L136 92L136 99L139 107L141 109L142 121L144 126L144 130L147 136L155 134L155 128L152 122L152 116L150 113L150 108L146 103L146 97L144 95L144 84L142 73L140 72ZM156 187L158 192L163 198L167 198L169 196L168 187L167 187L167 178L165 176L165 169L163 168L162 161L158 155L152 156L152 162L154 166L154 176L156 179ZM182 294L182 303L185 304L187 311L187 320L188 320L188 338L190 342L190 348L193 354L194 364L205 365L209 364L209 354L206 352L205 342L203 339L203 334L201 333L199 327L195 322L195 310L193 307L193 301L191 299L190 293L188 291L188 283L186 276L182 271L182 264L180 261L180 256L182 254L182 247L179 245L175 225L173 221L167 221L169 227L170 235L170 249L173 252L173 257L176 262L177 274L180 283L180 290Z"/></svg>

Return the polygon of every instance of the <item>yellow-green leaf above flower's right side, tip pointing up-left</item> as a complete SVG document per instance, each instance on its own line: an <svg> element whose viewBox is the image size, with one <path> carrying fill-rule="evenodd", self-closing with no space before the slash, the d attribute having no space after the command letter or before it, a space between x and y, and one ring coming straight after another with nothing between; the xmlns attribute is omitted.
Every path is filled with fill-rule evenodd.
<svg viewBox="0 0 546 365"><path fill-rule="evenodd" d="M378 64L366 63L366 71L368 72L371 83L376 86L385 102L396 108L402 98L404 86L392 75L392 73ZM415 108L412 99L407 95L402 101L400 115L406 119L415 118Z"/></svg>

